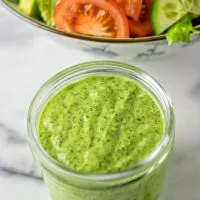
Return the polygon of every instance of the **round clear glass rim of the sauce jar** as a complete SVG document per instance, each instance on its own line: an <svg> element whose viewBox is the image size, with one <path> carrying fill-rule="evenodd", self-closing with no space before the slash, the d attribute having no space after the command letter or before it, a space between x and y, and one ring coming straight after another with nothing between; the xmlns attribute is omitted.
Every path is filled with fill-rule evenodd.
<svg viewBox="0 0 200 200"><path fill-rule="evenodd" d="M113 172L113 173L107 173L107 174L100 174L100 173L80 173L77 171L73 171L71 169L67 169L66 167L63 167L59 163L57 163L48 153L43 149L42 145L37 140L37 131L36 131L36 125L37 120L36 114L38 114L39 110L41 109L41 101L44 101L44 94L47 95L52 91L52 88L55 87L54 83L56 81L62 81L63 78L66 78L68 76L75 76L76 72L79 72L80 74L85 72L88 69L97 70L103 69L103 67L106 67L106 69L109 67L112 68L115 71L122 72L126 71L127 73L132 73L132 75L137 75L140 80L138 80L139 83L142 83L144 81L146 84L152 85L152 88L147 87L147 89L150 92L153 92L153 94L156 96L162 96L162 101L166 106L166 119L165 119L165 132L163 134L163 138L161 139L160 143L155 147L155 149L146 156L143 160L139 161L136 165L129 169L125 169L120 172ZM104 68L105 69L105 68ZM84 71L85 70L85 71ZM120 75L120 74L119 74ZM67 84L65 84L66 86ZM62 88L62 87L60 87ZM152 91L152 90L155 91ZM55 94L55 93L54 93ZM51 95L52 96L52 95ZM47 98L47 97L46 97ZM45 102L48 100L47 98ZM157 100L158 101L158 100ZM44 105L44 103L43 103ZM163 160L169 153L173 140L174 140L174 129L175 129L175 117L174 117L174 109L172 105L172 101L166 91L163 89L163 87L154 80L149 74L144 72L143 70L134 67L129 64L116 62L116 61L91 61L91 62L85 62L80 63L77 65L74 65L72 67L66 68L53 77L51 77L49 80L47 80L43 86L38 90L36 93L31 106L28 111L28 118L27 118L27 128L28 128L28 136L29 136L29 144L31 148L33 148L33 151L37 152L38 155L44 160L44 163L46 163L52 170L58 171L63 176L72 177L72 178L78 178L86 181L113 181L118 180L122 178L127 178L130 176L133 176L135 174L143 175L147 173L147 166L153 166L156 162L160 162L160 160ZM166 155L164 155L166 154ZM159 161L158 161L159 160ZM42 163L42 164L44 164ZM47 167L46 167L47 168Z"/></svg>

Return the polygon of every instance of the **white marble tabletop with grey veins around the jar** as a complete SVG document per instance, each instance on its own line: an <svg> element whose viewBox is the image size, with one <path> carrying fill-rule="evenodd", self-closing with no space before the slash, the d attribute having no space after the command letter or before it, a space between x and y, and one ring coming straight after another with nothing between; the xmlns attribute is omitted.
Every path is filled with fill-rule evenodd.
<svg viewBox="0 0 200 200"><path fill-rule="evenodd" d="M153 62L135 63L153 75L175 105L176 146L163 200L200 199L200 43ZM26 142L26 113L54 73L103 59L56 44L43 31L0 8L0 199L50 199Z"/></svg>

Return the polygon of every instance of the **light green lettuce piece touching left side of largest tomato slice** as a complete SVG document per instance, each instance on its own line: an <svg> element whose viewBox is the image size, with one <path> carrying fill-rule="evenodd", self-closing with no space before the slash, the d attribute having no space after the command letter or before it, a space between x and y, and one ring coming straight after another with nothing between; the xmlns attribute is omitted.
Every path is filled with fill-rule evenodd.
<svg viewBox="0 0 200 200"><path fill-rule="evenodd" d="M53 25L52 14L58 0L37 0L41 17L48 25Z"/></svg>

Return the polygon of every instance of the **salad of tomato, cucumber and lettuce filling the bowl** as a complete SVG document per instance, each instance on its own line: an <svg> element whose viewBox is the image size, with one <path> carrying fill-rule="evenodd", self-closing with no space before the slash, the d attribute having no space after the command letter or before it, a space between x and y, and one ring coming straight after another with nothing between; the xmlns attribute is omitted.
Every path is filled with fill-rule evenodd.
<svg viewBox="0 0 200 200"><path fill-rule="evenodd" d="M200 0L20 0L18 6L60 31L95 37L166 34L172 44L199 33Z"/></svg>

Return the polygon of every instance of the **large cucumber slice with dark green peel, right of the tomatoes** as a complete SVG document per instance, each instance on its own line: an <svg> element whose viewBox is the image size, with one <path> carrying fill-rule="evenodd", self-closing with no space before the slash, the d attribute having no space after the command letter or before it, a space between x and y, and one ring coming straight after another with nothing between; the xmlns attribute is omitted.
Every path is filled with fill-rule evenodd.
<svg viewBox="0 0 200 200"><path fill-rule="evenodd" d="M179 0L154 0L152 25L156 35L160 35L187 14Z"/></svg>

